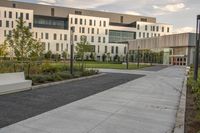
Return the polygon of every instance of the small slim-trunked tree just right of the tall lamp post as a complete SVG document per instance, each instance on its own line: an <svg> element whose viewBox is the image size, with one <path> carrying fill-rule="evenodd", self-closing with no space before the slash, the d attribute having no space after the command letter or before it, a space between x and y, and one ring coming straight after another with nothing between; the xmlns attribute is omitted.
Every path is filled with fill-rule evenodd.
<svg viewBox="0 0 200 133"><path fill-rule="evenodd" d="M85 53L92 52L92 47L90 43L87 42L86 37L84 36L81 37L81 41L77 43L76 51L77 51L77 55L81 58L81 62L82 62L81 68L83 71Z"/></svg>

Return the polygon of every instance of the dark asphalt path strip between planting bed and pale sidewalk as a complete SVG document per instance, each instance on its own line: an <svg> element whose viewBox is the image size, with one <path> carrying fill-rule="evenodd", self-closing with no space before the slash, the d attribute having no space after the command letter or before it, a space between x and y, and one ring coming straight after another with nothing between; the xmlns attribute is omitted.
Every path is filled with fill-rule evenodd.
<svg viewBox="0 0 200 133"><path fill-rule="evenodd" d="M42 89L0 96L0 128L142 77L109 73Z"/></svg>

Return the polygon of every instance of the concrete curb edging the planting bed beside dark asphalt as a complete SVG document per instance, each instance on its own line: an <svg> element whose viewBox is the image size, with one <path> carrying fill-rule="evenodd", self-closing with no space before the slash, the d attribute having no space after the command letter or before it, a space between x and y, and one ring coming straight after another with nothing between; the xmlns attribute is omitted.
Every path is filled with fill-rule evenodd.
<svg viewBox="0 0 200 133"><path fill-rule="evenodd" d="M52 83L36 85L36 86L32 86L31 89L32 90L33 89L39 89L39 88L43 88L43 87L54 86L54 85L57 85L57 84L63 84L63 83L69 83L69 82L83 80L83 79L95 78L95 77L103 76L105 74L106 73L100 73L100 74L92 75L92 76L86 76L86 77L81 77L81 78L75 78L75 79L69 79L69 80L63 80L63 81L58 81L58 82L52 82Z"/></svg>

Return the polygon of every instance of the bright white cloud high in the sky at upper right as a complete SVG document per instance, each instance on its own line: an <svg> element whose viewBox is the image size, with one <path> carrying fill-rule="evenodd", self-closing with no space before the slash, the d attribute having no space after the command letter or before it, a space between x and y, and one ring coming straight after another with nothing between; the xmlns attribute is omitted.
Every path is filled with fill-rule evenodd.
<svg viewBox="0 0 200 133"><path fill-rule="evenodd" d="M182 9L188 9L188 8L185 8L184 3L167 4L167 5L164 5L164 6L153 5L152 7L153 7L153 9L166 11L166 12L178 12Z"/></svg>

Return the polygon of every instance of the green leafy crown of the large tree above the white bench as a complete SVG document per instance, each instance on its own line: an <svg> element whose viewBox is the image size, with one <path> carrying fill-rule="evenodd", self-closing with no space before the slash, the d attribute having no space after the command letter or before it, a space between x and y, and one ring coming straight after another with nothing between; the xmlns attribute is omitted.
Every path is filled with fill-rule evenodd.
<svg viewBox="0 0 200 133"><path fill-rule="evenodd" d="M13 48L15 56L22 61L32 56L40 56L44 50L42 43L33 38L33 33L22 18L16 22L16 28L6 39L6 42Z"/></svg>

